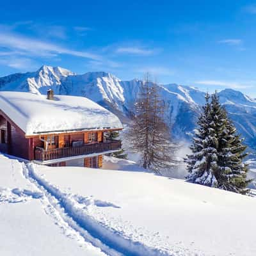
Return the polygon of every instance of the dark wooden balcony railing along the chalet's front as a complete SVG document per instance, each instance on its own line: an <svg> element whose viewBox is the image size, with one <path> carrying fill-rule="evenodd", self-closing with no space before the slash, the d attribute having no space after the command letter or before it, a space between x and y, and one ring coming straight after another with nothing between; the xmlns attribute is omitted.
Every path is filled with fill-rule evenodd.
<svg viewBox="0 0 256 256"><path fill-rule="evenodd" d="M48 161L52 159L88 155L93 153L102 153L109 150L118 150L121 148L121 141L112 140L100 143L84 144L81 147L53 148L45 150L44 148L35 148L35 160Z"/></svg>

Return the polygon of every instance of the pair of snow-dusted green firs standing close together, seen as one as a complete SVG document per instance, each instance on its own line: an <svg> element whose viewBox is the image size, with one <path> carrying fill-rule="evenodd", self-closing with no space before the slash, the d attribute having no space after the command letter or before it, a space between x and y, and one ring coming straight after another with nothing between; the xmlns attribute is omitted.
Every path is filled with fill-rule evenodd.
<svg viewBox="0 0 256 256"><path fill-rule="evenodd" d="M243 164L246 156L243 140L236 127L220 104L218 94L211 97L207 93L204 111L198 119L199 129L191 150L193 154L186 159L190 182L216 188L247 193L246 180L248 166Z"/></svg>

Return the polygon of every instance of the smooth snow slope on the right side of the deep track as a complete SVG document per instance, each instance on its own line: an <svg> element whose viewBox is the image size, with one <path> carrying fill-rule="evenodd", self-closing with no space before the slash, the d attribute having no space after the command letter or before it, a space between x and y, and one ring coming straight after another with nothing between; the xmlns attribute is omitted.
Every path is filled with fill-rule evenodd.
<svg viewBox="0 0 256 256"><path fill-rule="evenodd" d="M29 169L74 220L123 255L255 255L256 198L136 172L135 164L120 171L127 164Z"/></svg>

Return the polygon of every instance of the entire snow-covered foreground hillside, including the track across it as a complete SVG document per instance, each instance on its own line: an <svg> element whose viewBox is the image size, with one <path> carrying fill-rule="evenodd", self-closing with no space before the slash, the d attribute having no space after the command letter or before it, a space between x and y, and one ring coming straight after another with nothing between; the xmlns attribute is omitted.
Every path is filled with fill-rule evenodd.
<svg viewBox="0 0 256 256"><path fill-rule="evenodd" d="M256 255L256 198L111 157L113 170L0 164L0 255Z"/></svg>

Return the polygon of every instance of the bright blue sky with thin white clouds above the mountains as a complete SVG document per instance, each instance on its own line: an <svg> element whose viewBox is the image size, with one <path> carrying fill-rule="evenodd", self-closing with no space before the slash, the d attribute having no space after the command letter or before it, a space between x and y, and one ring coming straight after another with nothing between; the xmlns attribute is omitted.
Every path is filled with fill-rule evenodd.
<svg viewBox="0 0 256 256"><path fill-rule="evenodd" d="M3 1L0 76L42 65L256 97L256 1Z"/></svg>

